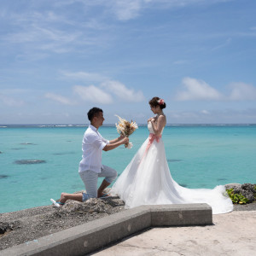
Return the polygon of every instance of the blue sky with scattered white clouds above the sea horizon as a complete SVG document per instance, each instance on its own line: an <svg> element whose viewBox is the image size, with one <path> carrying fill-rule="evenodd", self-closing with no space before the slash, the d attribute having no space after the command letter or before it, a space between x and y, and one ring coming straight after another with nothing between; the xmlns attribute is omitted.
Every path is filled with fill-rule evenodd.
<svg viewBox="0 0 256 256"><path fill-rule="evenodd" d="M0 2L0 124L256 123L254 0Z"/></svg>

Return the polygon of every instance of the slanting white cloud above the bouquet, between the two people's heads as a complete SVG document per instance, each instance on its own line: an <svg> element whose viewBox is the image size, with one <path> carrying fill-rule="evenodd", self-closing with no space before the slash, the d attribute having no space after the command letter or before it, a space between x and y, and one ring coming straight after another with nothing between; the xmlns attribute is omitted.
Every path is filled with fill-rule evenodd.
<svg viewBox="0 0 256 256"><path fill-rule="evenodd" d="M119 81L107 81L102 83L102 87L111 91L118 96L120 100L125 102L142 102L144 100L143 92L141 90L135 91L128 89L125 84L121 84Z"/></svg>

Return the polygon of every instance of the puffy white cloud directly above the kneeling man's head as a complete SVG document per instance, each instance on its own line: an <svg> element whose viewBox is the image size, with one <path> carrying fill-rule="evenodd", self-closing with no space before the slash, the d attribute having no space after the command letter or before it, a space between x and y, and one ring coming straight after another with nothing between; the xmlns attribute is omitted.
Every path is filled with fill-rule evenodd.
<svg viewBox="0 0 256 256"><path fill-rule="evenodd" d="M96 102L101 104L110 104L113 102L112 96L95 85L81 86L75 85L73 90L84 101Z"/></svg>

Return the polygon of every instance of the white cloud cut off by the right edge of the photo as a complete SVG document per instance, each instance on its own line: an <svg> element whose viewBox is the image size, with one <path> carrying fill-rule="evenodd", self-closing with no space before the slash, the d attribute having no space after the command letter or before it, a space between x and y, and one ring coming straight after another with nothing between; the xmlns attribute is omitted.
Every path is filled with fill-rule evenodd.
<svg viewBox="0 0 256 256"><path fill-rule="evenodd" d="M231 101L255 101L256 100L256 87L251 84L233 83L230 84Z"/></svg>

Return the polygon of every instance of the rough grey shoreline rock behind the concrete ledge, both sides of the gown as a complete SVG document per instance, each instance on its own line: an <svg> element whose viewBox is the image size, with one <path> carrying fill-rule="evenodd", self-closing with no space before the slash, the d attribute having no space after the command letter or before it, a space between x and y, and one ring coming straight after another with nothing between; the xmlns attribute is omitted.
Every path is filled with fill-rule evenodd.
<svg viewBox="0 0 256 256"><path fill-rule="evenodd" d="M253 195L253 201L250 197L252 203L234 205L235 211L256 211L255 184L232 183L226 188L233 188L236 193L248 197ZM0 250L121 211L125 211L124 201L111 197L104 200L94 198L84 203L67 201L63 207L35 207L0 213Z"/></svg>

